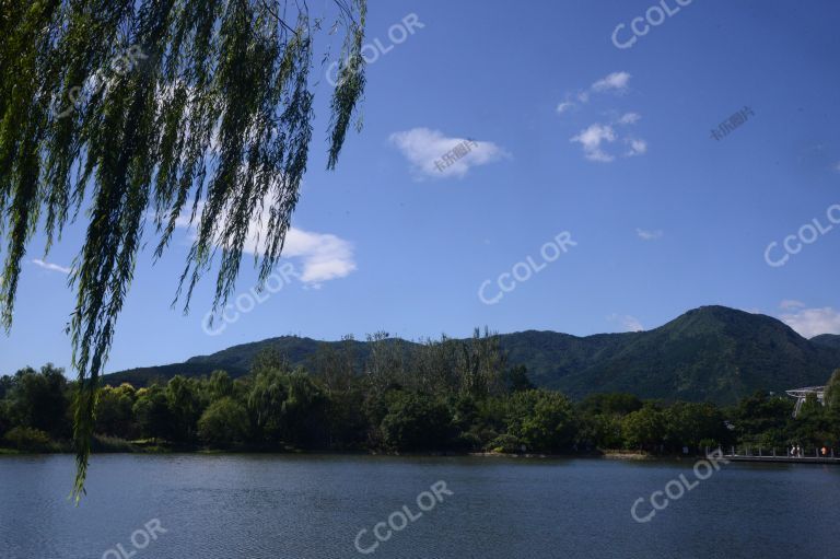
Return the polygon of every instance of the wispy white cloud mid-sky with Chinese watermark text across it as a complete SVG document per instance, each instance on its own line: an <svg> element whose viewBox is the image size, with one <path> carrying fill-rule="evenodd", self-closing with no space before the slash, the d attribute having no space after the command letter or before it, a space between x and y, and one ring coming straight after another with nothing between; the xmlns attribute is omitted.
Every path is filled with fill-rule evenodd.
<svg viewBox="0 0 840 559"><path fill-rule="evenodd" d="M471 142L465 138L448 138L439 130L429 128L412 128L390 135L394 143L402 155L411 163L418 176L463 177L471 167L486 165L505 158L508 154L492 142ZM450 163L444 161L458 144L468 143L468 151L460 158L453 158Z"/></svg>

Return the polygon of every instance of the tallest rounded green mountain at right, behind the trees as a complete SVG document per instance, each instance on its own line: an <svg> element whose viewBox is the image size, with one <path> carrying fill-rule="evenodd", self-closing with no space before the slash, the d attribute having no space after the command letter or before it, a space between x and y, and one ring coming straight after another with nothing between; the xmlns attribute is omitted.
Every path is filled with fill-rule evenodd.
<svg viewBox="0 0 840 559"><path fill-rule="evenodd" d="M581 358L535 381L572 396L620 391L730 404L756 389L822 384L840 368L840 349L813 343L775 318L723 306L689 311L650 331L581 341L588 353L569 352Z"/></svg>

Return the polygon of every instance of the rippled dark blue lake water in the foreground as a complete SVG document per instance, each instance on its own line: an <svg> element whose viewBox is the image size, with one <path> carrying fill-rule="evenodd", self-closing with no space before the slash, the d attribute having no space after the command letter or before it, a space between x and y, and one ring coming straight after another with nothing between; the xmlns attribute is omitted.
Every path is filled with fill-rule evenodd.
<svg viewBox="0 0 840 559"><path fill-rule="evenodd" d="M696 473L692 466L97 455L88 497L75 508L67 500L71 456L0 457L0 557L840 557L840 467L728 464ZM645 517L651 493L680 475L690 491L672 484L673 497L684 488L679 499L649 522L633 520L637 499L643 498L637 515ZM445 486L435 486L435 498L439 481ZM663 506L665 498L657 499ZM389 516L402 529L380 525L386 540L377 541L374 527ZM361 549L378 543L368 555L354 543L362 529Z"/></svg>

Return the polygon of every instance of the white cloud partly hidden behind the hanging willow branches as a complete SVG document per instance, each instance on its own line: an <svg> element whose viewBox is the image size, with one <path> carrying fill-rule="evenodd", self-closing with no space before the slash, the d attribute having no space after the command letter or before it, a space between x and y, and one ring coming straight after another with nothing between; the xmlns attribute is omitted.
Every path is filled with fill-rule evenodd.
<svg viewBox="0 0 840 559"><path fill-rule="evenodd" d="M252 255L262 252L266 241L264 229L268 224L270 203L270 200L266 199L262 211L252 218L243 252ZM176 224L179 228L188 228L195 238L196 226L189 224L190 210L191 208L185 208ZM201 214L201 210L199 205L196 219ZM224 229L224 221L220 220L220 230ZM219 243L215 244L219 246ZM298 228L289 228L287 231L282 257L298 259L295 264L300 265L300 280L316 289L320 287L320 282L343 278L357 268L352 243L330 233L315 233Z"/></svg>

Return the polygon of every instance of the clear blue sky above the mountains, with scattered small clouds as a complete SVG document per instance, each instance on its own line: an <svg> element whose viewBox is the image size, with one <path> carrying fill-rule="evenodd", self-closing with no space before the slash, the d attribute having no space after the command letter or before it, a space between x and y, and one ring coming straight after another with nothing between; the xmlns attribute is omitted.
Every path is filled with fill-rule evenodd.
<svg viewBox="0 0 840 559"><path fill-rule="evenodd" d="M707 304L840 333L840 4L663 3L676 13L649 12L653 0L374 0L368 40L385 53L368 50L364 128L325 172L322 80L289 281L252 304L246 258L229 319L202 322L210 276L184 316L170 307L183 228L156 265L140 255L107 370L287 334L649 329ZM618 48L616 27L631 40L645 13L664 21ZM389 28L410 14L395 43ZM466 154L451 152L466 139ZM0 372L69 365L66 269L83 225L46 263L33 242ZM540 271L520 266L502 291L528 257ZM503 296L482 303L482 284Z"/></svg>

